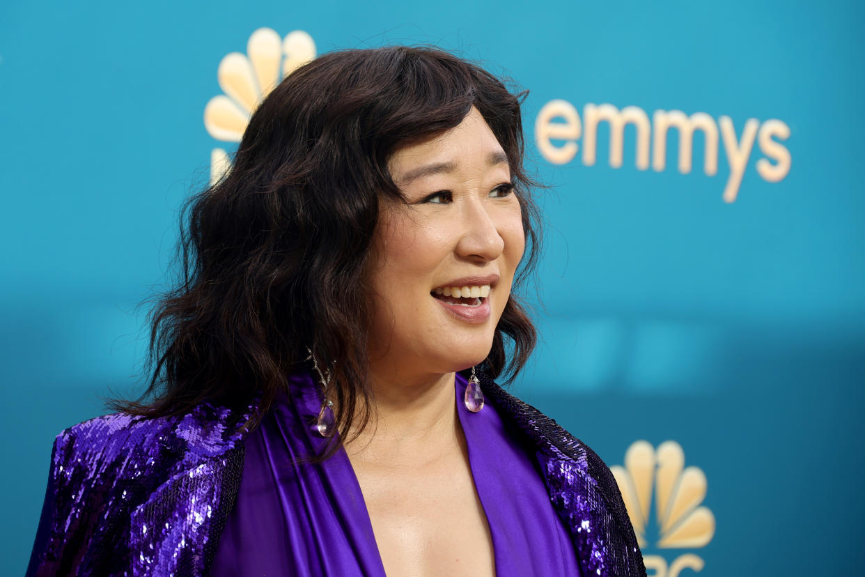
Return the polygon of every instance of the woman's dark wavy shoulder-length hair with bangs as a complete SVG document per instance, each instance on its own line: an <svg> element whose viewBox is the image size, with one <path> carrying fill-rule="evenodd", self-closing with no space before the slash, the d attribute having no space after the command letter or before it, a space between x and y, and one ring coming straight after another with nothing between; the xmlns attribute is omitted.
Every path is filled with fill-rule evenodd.
<svg viewBox="0 0 865 577"><path fill-rule="evenodd" d="M147 390L113 407L163 416L202 401L258 402L257 424L308 364L309 347L329 361L339 429L349 431L359 399L366 409L356 425L365 426L370 241L380 200L404 202L388 159L477 107L522 205L527 252L516 290L539 247L534 183L522 165L524 96L437 48L343 50L299 67L253 113L227 175L184 205L180 278L149 301ZM482 369L512 380L534 346L535 328L512 293Z"/></svg>

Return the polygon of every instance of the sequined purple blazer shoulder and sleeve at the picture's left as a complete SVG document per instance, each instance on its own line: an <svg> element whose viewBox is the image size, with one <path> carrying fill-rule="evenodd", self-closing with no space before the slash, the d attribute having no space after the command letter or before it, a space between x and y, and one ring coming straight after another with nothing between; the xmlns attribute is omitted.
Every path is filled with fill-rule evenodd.
<svg viewBox="0 0 865 577"><path fill-rule="evenodd" d="M110 414L58 435L28 575L206 574L243 470L231 416Z"/></svg>

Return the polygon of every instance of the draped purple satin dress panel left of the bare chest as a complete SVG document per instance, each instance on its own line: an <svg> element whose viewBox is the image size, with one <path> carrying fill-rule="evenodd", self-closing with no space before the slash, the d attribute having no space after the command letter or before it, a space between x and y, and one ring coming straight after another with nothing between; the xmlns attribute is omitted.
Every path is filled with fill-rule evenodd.
<svg viewBox="0 0 865 577"><path fill-rule="evenodd" d="M215 577L340 575L384 577L355 471L343 450L322 464L313 433L319 401L309 375L293 376L246 439L240 492L216 549Z"/></svg>

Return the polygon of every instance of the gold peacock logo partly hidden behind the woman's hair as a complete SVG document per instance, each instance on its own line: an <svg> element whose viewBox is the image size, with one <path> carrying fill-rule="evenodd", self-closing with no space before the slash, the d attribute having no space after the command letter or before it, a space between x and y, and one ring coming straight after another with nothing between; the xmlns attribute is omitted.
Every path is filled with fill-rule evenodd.
<svg viewBox="0 0 865 577"><path fill-rule="evenodd" d="M303 30L281 38L273 29L259 28L249 36L247 54L232 52L220 62L216 78L224 94L204 107L204 127L223 142L240 142L259 102L280 80L316 57L316 43ZM210 183L218 182L231 163L227 152L210 153Z"/></svg>

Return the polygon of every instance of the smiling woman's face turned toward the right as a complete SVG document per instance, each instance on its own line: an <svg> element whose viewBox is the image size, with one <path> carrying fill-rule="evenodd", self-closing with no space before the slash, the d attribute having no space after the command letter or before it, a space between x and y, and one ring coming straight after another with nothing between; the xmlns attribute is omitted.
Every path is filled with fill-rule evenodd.
<svg viewBox="0 0 865 577"><path fill-rule="evenodd" d="M375 230L371 361L400 377L471 367L490 352L525 248L507 157L472 107L388 169L407 202L383 202Z"/></svg>

